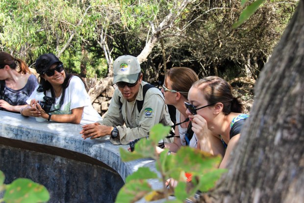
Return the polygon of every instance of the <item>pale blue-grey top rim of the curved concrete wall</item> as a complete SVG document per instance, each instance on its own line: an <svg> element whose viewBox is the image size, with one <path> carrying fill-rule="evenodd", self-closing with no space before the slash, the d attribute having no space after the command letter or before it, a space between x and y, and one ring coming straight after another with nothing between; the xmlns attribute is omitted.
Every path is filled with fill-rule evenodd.
<svg viewBox="0 0 304 203"><path fill-rule="evenodd" d="M33 117L0 111L0 147L1 145L17 147L56 156L66 154L66 158L80 162L95 165L103 163L108 170L117 172L123 181L126 180L127 175L142 166L156 172L154 160L123 162L119 148L127 149L128 145L112 145L108 136L96 140L83 140L79 134L80 130L81 126L76 124L37 122ZM42 145L43 147L40 147ZM162 187L156 179L152 179L150 184L154 189Z"/></svg>

